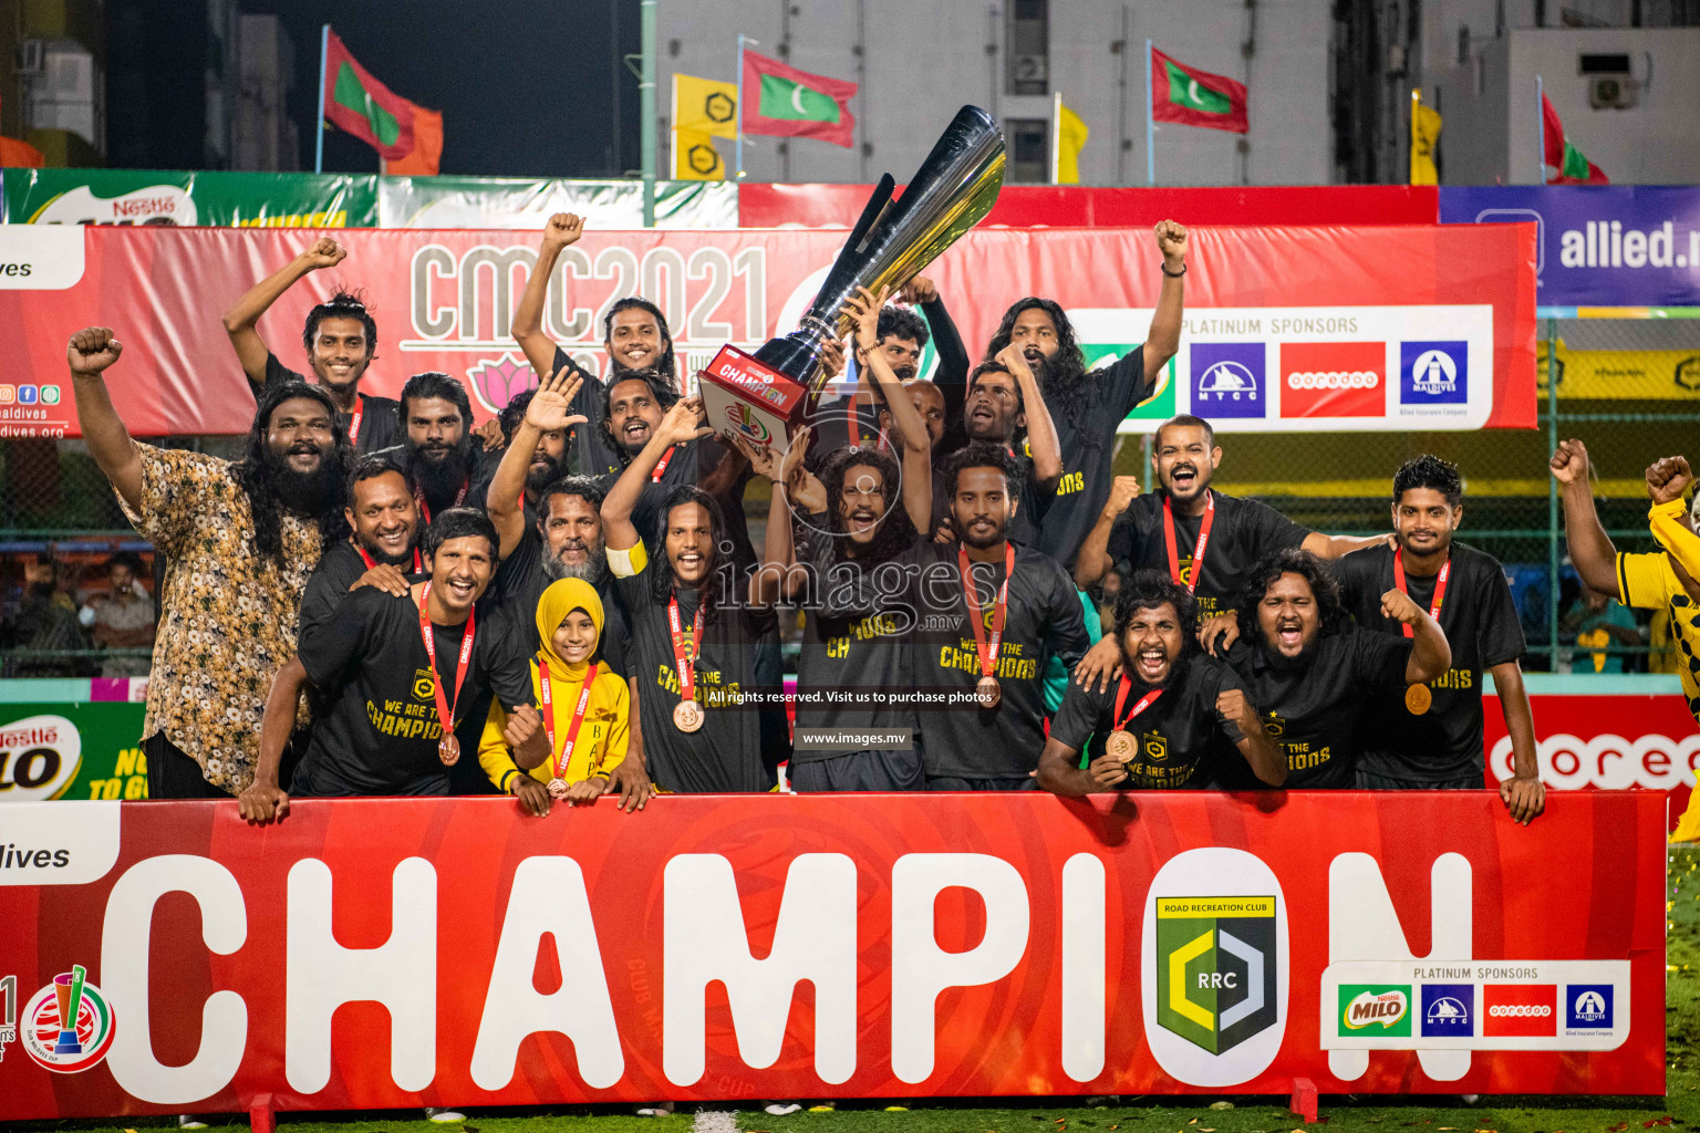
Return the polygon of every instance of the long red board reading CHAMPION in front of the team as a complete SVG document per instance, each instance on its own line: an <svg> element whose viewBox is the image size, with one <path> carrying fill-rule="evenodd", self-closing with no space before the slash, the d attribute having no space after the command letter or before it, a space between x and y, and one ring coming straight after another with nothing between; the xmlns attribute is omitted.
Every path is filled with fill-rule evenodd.
<svg viewBox="0 0 1700 1133"><path fill-rule="evenodd" d="M267 829L228 802L0 807L0 1119L1663 1094L1663 805L1556 793L1520 827L1491 792L304 800Z"/></svg>

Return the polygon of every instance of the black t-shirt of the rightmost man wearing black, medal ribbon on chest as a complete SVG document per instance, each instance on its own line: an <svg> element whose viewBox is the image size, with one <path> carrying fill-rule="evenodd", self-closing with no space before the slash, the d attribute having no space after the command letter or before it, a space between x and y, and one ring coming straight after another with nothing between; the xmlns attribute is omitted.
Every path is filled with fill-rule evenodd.
<svg viewBox="0 0 1700 1133"><path fill-rule="evenodd" d="M1334 562L1334 578L1360 629L1404 637L1399 622L1380 612L1380 596L1394 589L1392 549L1353 550ZM1411 601L1433 608L1436 578L1408 572ZM1498 559L1454 540L1440 629L1452 645L1452 668L1428 683L1433 703L1423 715L1413 715L1404 705L1404 690L1397 688L1367 705L1358 764L1363 769L1421 783L1481 778L1482 671L1520 659L1525 649L1523 627Z"/></svg>

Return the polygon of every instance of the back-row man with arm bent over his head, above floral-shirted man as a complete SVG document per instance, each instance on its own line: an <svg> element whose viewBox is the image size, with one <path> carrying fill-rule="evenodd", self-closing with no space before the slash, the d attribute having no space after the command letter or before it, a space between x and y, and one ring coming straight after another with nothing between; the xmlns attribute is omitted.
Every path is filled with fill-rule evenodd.
<svg viewBox="0 0 1700 1133"><path fill-rule="evenodd" d="M301 255L267 275L224 313L224 333L253 386L255 397L267 386L306 380L277 360L258 323L274 302L298 282L347 258L347 248L330 236L313 241ZM325 302L308 311L301 331L313 379L337 403L337 428L348 435L355 452L388 448L401 438L400 406L393 397L360 392L360 379L377 357L377 321L357 290L337 289Z"/></svg>

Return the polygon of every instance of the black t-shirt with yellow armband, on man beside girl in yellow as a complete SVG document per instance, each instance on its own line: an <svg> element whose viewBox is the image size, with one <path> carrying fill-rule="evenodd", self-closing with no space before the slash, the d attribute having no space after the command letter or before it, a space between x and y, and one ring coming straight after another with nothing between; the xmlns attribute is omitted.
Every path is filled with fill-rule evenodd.
<svg viewBox="0 0 1700 1133"><path fill-rule="evenodd" d="M775 627L772 610L753 610L743 595L722 603L702 627L697 659L697 702L702 727L682 732L673 725L678 705L678 664L668 625L668 600L656 598L651 572L656 562L639 542L632 547L634 574L617 579L631 613L629 657L638 681L638 713L649 778L661 790L678 793L765 792L774 773L762 758L760 708L780 703L782 690L756 685L756 644ZM719 586L721 579L714 579ZM741 589L741 584L740 584ZM678 593L680 629L687 639L697 615L697 591Z"/></svg>

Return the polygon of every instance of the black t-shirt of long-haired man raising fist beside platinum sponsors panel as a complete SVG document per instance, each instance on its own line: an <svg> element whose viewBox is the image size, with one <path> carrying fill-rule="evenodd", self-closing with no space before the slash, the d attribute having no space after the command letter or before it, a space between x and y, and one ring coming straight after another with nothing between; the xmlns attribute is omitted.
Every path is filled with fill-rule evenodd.
<svg viewBox="0 0 1700 1133"><path fill-rule="evenodd" d="M1091 533L1110 498L1115 469L1115 430L1134 406L1151 392L1146 380L1144 347L1136 347L1112 365L1088 372L1086 404L1078 421L1046 397L1062 450L1062 479L1039 521L1037 550L1051 555L1073 574L1081 544Z"/></svg>

